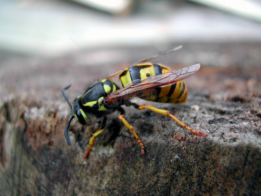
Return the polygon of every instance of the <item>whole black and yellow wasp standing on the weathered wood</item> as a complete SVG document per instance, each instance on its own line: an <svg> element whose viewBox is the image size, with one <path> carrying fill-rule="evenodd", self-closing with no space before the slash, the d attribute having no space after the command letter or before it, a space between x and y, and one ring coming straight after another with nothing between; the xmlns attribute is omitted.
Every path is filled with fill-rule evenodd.
<svg viewBox="0 0 261 196"><path fill-rule="evenodd" d="M136 102L131 101L131 99L135 97L147 101L156 101L161 103L181 103L187 100L187 87L182 80L198 71L200 64L195 64L171 71L170 68L162 64L152 64L147 62L161 55L177 51L181 47L182 46L178 46L171 50L167 50L148 57L130 65L124 70L111 75L110 77L94 82L86 89L83 95L76 97L72 103L68 101L68 98L65 94L65 90L68 89L71 84L63 88L63 96L67 101L72 113L72 116L70 117L64 130L67 143L69 145L71 144L68 131L70 123L73 119L77 119L80 124L88 126L91 125L95 118L103 117L100 129L93 133L93 136L89 141L89 146L83 155L84 158L87 158L91 147L94 144L95 137L103 132L106 126L107 115L115 111L119 111L120 115L118 118L129 130L133 132L141 147L141 154L145 154L144 144L141 142L141 139L138 137L133 127L124 118L125 111L121 107L122 105L134 106L134 108L139 110L143 110L145 108L150 109L153 112L171 117L182 127L192 131L197 135L207 136L205 133L195 131L194 129L186 126L174 115L170 114L168 110L155 108L151 105L139 105ZM120 88L111 80L112 77L117 75L123 88Z"/></svg>

